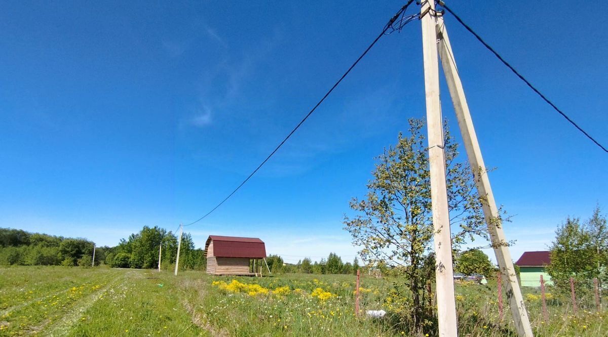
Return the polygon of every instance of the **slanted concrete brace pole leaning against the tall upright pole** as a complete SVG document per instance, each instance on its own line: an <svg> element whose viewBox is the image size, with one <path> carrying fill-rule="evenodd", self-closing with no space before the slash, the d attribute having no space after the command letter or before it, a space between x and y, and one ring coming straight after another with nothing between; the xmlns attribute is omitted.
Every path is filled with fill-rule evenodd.
<svg viewBox="0 0 608 337"><path fill-rule="evenodd" d="M454 59L454 52L452 52L447 30L443 18L441 17L437 18L437 36L440 46L439 54L441 57L441 65L443 66L443 73L446 77L447 87L449 88L450 96L452 97L452 103L454 103L454 111L456 112L460 133L463 142L465 143L469 164L471 165L475 177L477 192L480 197L485 198L482 205L483 215L488 225L488 232L490 234L492 248L494 248L494 254L496 254L500 273L502 273L505 280L505 282L503 282L503 287L505 287L506 297L511 308L511 316L513 316L513 321L519 336L533 336L530 319L528 318L528 313L525 308L522 291L517 282L517 276L515 268L513 267L513 260L511 260L511 253L509 252L505 232L503 231L502 223L500 222L499 209L496 206L496 200L494 200L494 194L492 193L487 174L488 172L483 163L482 151L479 147L479 142L477 141L475 128L473 127L471 112L469 112L469 105L466 102L465 89L463 89L462 82L460 81L456 61Z"/></svg>

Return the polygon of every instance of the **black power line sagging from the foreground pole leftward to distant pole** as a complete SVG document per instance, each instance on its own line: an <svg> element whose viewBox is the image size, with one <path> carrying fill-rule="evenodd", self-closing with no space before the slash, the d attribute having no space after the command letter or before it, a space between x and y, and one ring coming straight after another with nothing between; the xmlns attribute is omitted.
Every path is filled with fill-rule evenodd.
<svg viewBox="0 0 608 337"><path fill-rule="evenodd" d="M342 82L342 80L344 80L344 78L348 75L348 73L350 73L351 70L353 70L354 66L356 66L359 61L361 61L361 59L363 58L363 56L365 56L367 54L367 52L370 51L371 47L373 47L376 42L378 42L378 40L384 35L384 33L387 32L387 30L395 30L395 28L393 28L393 23L396 21L396 19L399 18L399 15L401 15L402 13L404 13L407 9L407 7L413 2L413 0L409 0L407 1L407 3L401 7L401 9L399 9L399 11L397 13L395 13L395 15L393 15L393 17L389 20L389 22L386 24L386 26L384 26L384 29L382 29L382 33L380 33L378 35L378 37L376 37L376 39L374 39L374 41L370 44L370 46L367 47L367 49L365 49L365 51L361 54L361 56L359 56L359 58L354 61L353 64L351 64L351 66L348 68L348 70L342 75L342 77L340 77L339 80L336 81L336 83L334 83L334 85L331 87L330 90L328 90L328 92L325 93L325 95L323 96L323 98L321 98L319 100L319 102L317 102L317 104L313 107L313 109L311 109L311 111L308 112L308 114L306 114L304 116L304 118L302 118L302 120L300 121L300 123L298 123L294 129L291 130L291 132L289 132L289 134L283 139L283 141L281 141L281 143L278 144L278 146L271 152L271 154L268 155L268 157L266 157L266 159L264 159L263 162L261 162L260 165L258 165L257 168L254 169L253 172L251 172L251 174L249 174L249 176L247 176L247 178L245 180L243 180L243 182L241 182L240 185L237 186L237 188L234 189L234 191L232 191L227 197L224 198L224 200L222 200L221 202L218 203L218 205L216 205L215 207L213 207L209 212L207 212L207 214L205 214L202 217L199 217L198 220L188 223L188 225L184 225L184 226L190 226L190 225L194 225L195 223L201 221L202 219L205 219L207 216L209 216L209 214L213 213L213 211L215 211L219 206L221 206L224 202L226 202L226 200L228 200L230 197L233 196L233 194L235 194L243 185L245 185L245 183L251 178L253 177L253 175L255 174L255 172L257 172L266 162L268 162L268 160L272 157L272 155L274 155L279 148L281 148L281 146L283 146L283 144L285 144L285 142L289 139L289 137L291 137L291 135L294 134L294 132L300 128L300 126L302 126L302 124L308 119L308 117L310 117L310 115L313 114L313 112L317 109L317 107L319 107L321 105L321 103L323 103L323 101L325 100L325 98L327 98L331 92L336 89L336 87L338 86L338 84L340 84L340 82ZM409 22L409 21L408 21ZM407 23L407 22L406 22ZM402 27L401 24L400 26ZM399 29L401 29L401 27L399 27Z"/></svg>

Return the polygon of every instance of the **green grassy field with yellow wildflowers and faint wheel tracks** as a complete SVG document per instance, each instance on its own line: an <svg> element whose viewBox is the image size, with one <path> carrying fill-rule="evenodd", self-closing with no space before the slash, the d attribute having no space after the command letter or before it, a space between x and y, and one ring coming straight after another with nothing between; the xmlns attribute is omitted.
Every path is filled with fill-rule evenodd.
<svg viewBox="0 0 608 337"><path fill-rule="evenodd" d="M212 277L200 271L70 267L0 268L0 336L402 336L391 313L392 279L362 278L361 307L384 319L354 315L354 276L288 274ZM498 319L495 284L457 285L463 336L514 335L505 303ZM608 316L567 301L541 315L536 290L525 290L537 336L606 336ZM421 336L434 335L429 325Z"/></svg>

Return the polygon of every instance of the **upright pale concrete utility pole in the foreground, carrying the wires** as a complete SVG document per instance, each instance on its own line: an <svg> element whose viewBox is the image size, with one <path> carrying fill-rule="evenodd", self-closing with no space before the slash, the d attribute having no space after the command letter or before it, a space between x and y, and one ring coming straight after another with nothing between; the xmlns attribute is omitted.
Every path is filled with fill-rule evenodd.
<svg viewBox="0 0 608 337"><path fill-rule="evenodd" d="M437 25L434 0L421 4L424 91L429 138L430 197L435 245L435 281L437 282L437 317L439 336L458 336L452 238L447 208L446 162L443 143L443 120L439 98L439 61L437 59Z"/></svg>

